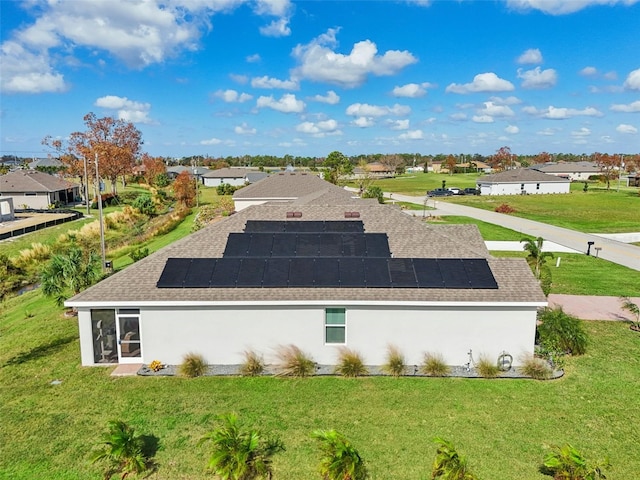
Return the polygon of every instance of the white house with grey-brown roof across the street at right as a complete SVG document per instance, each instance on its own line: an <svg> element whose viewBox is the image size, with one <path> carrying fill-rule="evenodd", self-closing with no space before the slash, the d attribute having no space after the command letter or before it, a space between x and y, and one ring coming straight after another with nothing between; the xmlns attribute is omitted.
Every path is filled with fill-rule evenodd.
<svg viewBox="0 0 640 480"><path fill-rule="evenodd" d="M480 195L569 193L571 181L528 168L505 170L476 180Z"/></svg>

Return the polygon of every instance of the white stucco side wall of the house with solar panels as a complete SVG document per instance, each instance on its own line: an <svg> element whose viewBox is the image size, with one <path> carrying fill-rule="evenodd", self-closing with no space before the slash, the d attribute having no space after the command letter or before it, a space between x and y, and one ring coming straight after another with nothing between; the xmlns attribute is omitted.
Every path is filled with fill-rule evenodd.
<svg viewBox="0 0 640 480"><path fill-rule="evenodd" d="M536 307L348 306L346 346L367 364L385 361L387 346L420 364L425 352L440 353L450 365L464 365L468 352L497 360L506 351L517 360L532 354ZM234 306L142 308L140 336L144 363L179 364L189 352L210 364L242 363L254 350L273 362L278 345L294 344L321 364L334 364L339 345L324 343L324 307ZM93 364L91 319L79 314L82 364Z"/></svg>

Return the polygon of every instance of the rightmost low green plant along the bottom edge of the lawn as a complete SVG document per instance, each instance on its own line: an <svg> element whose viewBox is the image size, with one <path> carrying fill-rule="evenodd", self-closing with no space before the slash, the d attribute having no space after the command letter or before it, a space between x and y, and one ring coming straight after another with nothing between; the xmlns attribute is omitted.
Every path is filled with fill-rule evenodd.
<svg viewBox="0 0 640 480"><path fill-rule="evenodd" d="M596 464L587 462L578 450L566 444L552 447L552 451L545 455L540 471L555 480L599 480L607 478L604 470L610 467L608 459Z"/></svg>

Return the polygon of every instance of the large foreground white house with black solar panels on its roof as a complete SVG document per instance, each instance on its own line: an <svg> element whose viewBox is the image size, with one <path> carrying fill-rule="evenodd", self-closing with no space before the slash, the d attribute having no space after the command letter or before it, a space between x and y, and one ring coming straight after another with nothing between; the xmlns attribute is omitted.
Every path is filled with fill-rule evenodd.
<svg viewBox="0 0 640 480"><path fill-rule="evenodd" d="M524 259L492 257L475 225L425 224L323 187L244 208L67 301L82 364L179 364L194 352L237 365L248 350L270 363L290 344L328 365L343 346L369 365L389 345L408 364L425 352L450 365L470 350L533 353L547 302Z"/></svg>

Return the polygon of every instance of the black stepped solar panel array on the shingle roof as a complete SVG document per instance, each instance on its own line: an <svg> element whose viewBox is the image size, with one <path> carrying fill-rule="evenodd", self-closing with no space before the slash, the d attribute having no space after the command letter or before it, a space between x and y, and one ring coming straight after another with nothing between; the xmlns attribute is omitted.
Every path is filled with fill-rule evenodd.
<svg viewBox="0 0 640 480"><path fill-rule="evenodd" d="M498 288L486 259L392 258L362 221L247 221L222 258L169 258L158 288Z"/></svg>

